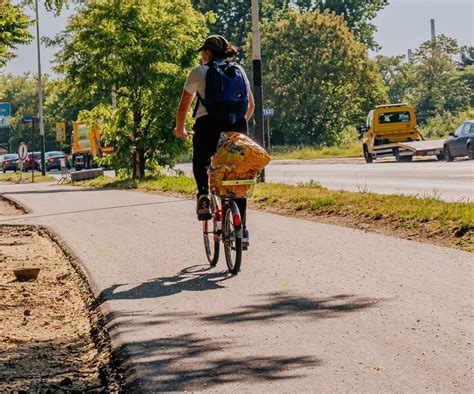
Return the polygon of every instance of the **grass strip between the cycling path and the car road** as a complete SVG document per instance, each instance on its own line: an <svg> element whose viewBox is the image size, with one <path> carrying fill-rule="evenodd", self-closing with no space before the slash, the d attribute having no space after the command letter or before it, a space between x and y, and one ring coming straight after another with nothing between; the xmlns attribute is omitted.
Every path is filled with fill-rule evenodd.
<svg viewBox="0 0 474 394"><path fill-rule="evenodd" d="M89 187L136 189L192 196L193 178L181 175L148 176L141 181L97 178L77 182ZM365 228L474 251L474 204L435 198L331 191L311 181L296 186L258 184L250 199L255 209Z"/></svg>

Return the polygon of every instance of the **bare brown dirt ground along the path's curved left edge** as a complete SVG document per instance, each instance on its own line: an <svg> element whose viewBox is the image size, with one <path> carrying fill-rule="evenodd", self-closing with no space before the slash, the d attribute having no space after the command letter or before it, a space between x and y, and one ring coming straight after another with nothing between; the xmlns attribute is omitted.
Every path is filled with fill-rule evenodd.
<svg viewBox="0 0 474 394"><path fill-rule="evenodd" d="M0 199L1 214L15 213ZM18 281L29 267L37 279ZM0 305L0 392L119 389L84 274L44 228L0 226Z"/></svg>

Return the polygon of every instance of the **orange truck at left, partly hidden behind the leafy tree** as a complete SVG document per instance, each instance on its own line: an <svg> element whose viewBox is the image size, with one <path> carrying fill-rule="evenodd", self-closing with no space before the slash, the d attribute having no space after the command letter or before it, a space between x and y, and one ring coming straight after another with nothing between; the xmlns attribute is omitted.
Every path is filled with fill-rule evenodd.
<svg viewBox="0 0 474 394"><path fill-rule="evenodd" d="M105 157L113 150L113 146L102 143L99 126L89 127L85 122L74 122L71 155L72 166L77 171L93 168L96 158Z"/></svg>

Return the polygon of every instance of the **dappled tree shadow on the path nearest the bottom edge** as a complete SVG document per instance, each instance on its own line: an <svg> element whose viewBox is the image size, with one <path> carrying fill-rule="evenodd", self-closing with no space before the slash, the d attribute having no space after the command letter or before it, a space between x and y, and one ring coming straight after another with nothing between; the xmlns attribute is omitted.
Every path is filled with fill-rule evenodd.
<svg viewBox="0 0 474 394"><path fill-rule="evenodd" d="M128 388L145 392L204 390L225 383L296 379L321 365L311 356L238 356L228 343L194 334L141 341L124 345L139 366L138 381L126 378ZM241 354L241 352L239 352ZM137 365L138 364L138 365ZM128 365L129 367L134 367ZM302 369L306 371L303 374ZM139 383L138 383L139 382Z"/></svg>

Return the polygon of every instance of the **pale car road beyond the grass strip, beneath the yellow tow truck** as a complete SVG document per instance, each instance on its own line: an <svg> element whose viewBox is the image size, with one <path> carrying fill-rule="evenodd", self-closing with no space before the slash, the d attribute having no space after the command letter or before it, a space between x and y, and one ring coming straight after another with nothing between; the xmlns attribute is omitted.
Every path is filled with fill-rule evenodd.
<svg viewBox="0 0 474 394"><path fill-rule="evenodd" d="M191 165L179 168L191 174ZM411 194L447 201L474 201L474 161L453 163L376 162L360 159L274 161L266 169L269 182L297 184L315 180L334 190Z"/></svg>

